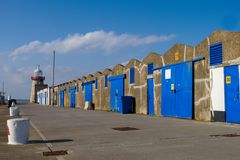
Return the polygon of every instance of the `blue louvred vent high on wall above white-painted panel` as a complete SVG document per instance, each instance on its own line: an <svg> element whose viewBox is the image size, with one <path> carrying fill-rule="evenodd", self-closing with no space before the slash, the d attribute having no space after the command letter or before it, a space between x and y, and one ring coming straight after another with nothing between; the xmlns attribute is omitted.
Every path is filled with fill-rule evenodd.
<svg viewBox="0 0 240 160"><path fill-rule="evenodd" d="M213 44L209 48L210 66L222 64L222 43Z"/></svg>

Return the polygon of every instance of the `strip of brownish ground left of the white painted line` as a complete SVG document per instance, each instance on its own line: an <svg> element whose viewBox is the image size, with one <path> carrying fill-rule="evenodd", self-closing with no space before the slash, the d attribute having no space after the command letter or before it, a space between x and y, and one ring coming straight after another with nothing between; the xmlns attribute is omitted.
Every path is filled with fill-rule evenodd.
<svg viewBox="0 0 240 160"><path fill-rule="evenodd" d="M42 153L49 151L38 133L30 127L29 144L27 145L8 145L7 139L7 120L9 116L7 106L0 106L0 159L1 160L40 160L56 159L56 157L43 157Z"/></svg>

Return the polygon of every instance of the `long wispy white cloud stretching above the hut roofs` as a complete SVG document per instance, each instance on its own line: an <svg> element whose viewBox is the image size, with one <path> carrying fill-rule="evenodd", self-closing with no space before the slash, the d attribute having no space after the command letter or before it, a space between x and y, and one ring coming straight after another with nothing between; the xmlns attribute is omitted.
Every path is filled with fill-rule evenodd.
<svg viewBox="0 0 240 160"><path fill-rule="evenodd" d="M16 48L10 56L15 59L18 56L26 54L49 54L53 50L56 50L58 54L68 54L74 51L78 53L99 51L101 54L111 54L121 48L166 42L174 37L174 34L139 36L94 31L86 34L68 35L63 39L56 39L50 42L32 41Z"/></svg>

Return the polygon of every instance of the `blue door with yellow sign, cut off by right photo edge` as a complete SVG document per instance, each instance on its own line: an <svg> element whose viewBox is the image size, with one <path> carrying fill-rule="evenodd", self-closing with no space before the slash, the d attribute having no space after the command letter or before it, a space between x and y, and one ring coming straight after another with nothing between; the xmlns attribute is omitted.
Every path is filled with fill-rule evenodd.
<svg viewBox="0 0 240 160"><path fill-rule="evenodd" d="M226 121L240 123L239 66L224 68Z"/></svg>

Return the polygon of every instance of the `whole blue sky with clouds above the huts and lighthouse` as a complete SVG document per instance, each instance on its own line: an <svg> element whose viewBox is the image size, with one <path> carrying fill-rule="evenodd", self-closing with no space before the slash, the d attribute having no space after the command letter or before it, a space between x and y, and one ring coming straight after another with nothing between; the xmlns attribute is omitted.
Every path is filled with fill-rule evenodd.
<svg viewBox="0 0 240 160"><path fill-rule="evenodd" d="M41 65L51 82L95 73L175 43L195 45L219 29L240 30L238 0L1 0L0 81L14 98L28 98Z"/></svg>

